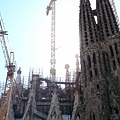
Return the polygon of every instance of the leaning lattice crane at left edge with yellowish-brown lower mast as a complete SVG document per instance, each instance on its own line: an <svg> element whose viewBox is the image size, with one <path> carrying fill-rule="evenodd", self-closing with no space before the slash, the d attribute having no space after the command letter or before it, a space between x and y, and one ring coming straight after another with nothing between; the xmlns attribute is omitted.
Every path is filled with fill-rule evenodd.
<svg viewBox="0 0 120 120"><path fill-rule="evenodd" d="M3 30L2 20L0 20L0 42L2 45L3 54L6 61L7 68L7 76L4 87L4 93L1 98L0 105L0 120L14 120L14 117L11 115L11 103L12 103L12 86L14 82L14 72L15 72L15 64L14 64L14 52L8 53L5 36L7 35L7 31Z"/></svg>

